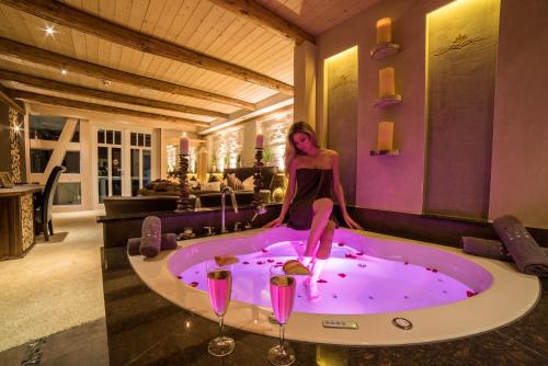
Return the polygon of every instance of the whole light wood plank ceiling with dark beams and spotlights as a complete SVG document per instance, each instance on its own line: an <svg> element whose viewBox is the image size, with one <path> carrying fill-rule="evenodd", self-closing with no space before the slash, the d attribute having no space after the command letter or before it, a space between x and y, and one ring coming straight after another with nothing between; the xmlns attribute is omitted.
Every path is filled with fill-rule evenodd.
<svg viewBox="0 0 548 366"><path fill-rule="evenodd" d="M0 80L12 98L204 127L290 95L295 43L375 1L0 0Z"/></svg>

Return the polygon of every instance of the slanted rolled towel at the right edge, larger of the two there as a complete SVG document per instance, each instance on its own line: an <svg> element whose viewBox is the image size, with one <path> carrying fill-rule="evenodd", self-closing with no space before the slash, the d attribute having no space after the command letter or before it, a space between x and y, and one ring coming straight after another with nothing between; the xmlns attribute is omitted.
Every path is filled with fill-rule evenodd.
<svg viewBox="0 0 548 366"><path fill-rule="evenodd" d="M548 276L548 254L517 218L511 215L499 217L493 221L493 228L520 271Z"/></svg>

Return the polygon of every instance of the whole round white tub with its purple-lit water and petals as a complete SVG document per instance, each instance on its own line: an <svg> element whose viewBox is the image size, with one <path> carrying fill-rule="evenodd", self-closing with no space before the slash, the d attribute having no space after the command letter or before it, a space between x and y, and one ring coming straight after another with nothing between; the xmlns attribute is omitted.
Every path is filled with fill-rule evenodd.
<svg viewBox="0 0 548 366"><path fill-rule="evenodd" d="M277 327L269 322L267 266L295 258L306 236L287 228L258 229L185 241L183 248L156 259L130 256L129 261L151 289L216 320L201 267L215 255L238 255L225 323L276 336ZM346 229L335 231L334 243L333 260L322 273L328 279L320 284L321 301L310 304L298 284L287 339L346 345L449 340L506 324L532 309L539 296L536 277L516 272L512 264L457 249ZM250 276L252 281L243 281ZM381 277L390 278L372 285ZM387 285L390 281L393 286ZM410 285L414 287L408 290ZM396 327L396 318L409 320L412 328ZM358 329L327 329L323 320L353 321Z"/></svg>

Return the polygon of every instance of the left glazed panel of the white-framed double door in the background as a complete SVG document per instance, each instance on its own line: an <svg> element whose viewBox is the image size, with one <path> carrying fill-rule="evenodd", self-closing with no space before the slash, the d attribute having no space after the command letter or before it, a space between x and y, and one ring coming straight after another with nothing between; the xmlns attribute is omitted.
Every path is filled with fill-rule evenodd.
<svg viewBox="0 0 548 366"><path fill-rule="evenodd" d="M122 131L98 129L98 192L104 197L121 196L123 186Z"/></svg>

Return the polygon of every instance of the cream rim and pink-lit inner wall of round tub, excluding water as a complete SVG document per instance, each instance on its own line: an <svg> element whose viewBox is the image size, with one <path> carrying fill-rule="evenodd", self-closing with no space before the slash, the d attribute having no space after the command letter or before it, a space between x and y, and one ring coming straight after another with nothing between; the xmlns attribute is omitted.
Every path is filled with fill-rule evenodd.
<svg viewBox="0 0 548 366"><path fill-rule="evenodd" d="M287 228L258 229L184 241L180 242L182 248L162 252L156 259L144 259L139 255L130 256L129 261L139 277L156 293L192 312L216 320L207 293L201 290L199 286L186 285L185 278L178 278L178 275L215 255L258 253L258 258L262 258L267 254L261 250L266 251L265 248L283 241L306 240L306 231ZM412 310L404 309L403 300L401 307L396 307L399 310L383 312L376 309L373 313L341 313L338 307L333 306L319 311L319 306L300 306L302 311L294 311L286 327L287 339L346 345L398 345L450 340L484 332L522 317L535 306L540 294L537 277L516 272L513 264L466 255L453 248L346 229L335 231L334 242L344 243L349 250L363 254L367 258L364 263L378 262L381 265L389 263L385 261L389 260L397 262L392 263L396 267L410 264L415 268L422 266L429 271L435 270L436 273L458 281L478 295L452 299L445 305L422 308L414 306ZM430 273L420 278L430 278L427 276ZM364 283L366 281L365 274ZM423 279L418 277L418 281ZM346 289L341 291L340 298L331 293L322 294L322 301L336 304L347 293ZM302 304L306 299L301 298L299 301ZM267 321L270 313L267 302L263 301L262 306L258 306L251 301L233 299L225 323L250 332L277 336L277 327ZM395 318L409 320L412 328L403 330L396 327ZM323 320L353 321L357 323L358 329L327 329L323 328Z"/></svg>

